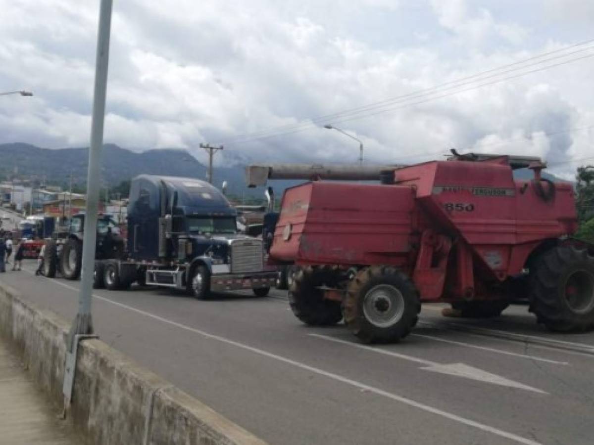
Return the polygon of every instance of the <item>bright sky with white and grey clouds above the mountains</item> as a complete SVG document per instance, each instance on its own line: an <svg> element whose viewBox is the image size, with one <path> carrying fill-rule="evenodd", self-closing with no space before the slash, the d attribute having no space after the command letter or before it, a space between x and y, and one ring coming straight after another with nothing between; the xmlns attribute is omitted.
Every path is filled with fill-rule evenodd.
<svg viewBox="0 0 594 445"><path fill-rule="evenodd" d="M34 92L0 98L0 143L88 145L99 1L0 11L0 91ZM115 0L105 141L355 163L332 123L366 162L457 147L571 176L594 156L593 29L589 0Z"/></svg>

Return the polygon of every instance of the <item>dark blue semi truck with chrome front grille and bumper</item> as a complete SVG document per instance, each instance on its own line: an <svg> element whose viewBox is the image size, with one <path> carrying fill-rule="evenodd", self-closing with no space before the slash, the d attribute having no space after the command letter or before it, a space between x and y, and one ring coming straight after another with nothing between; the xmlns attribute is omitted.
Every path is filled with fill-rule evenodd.
<svg viewBox="0 0 594 445"><path fill-rule="evenodd" d="M236 217L225 196L206 182L137 176L124 253L96 260L94 284L125 290L138 282L185 290L198 299L240 289L266 296L277 271L267 268L261 239L238 233Z"/></svg>

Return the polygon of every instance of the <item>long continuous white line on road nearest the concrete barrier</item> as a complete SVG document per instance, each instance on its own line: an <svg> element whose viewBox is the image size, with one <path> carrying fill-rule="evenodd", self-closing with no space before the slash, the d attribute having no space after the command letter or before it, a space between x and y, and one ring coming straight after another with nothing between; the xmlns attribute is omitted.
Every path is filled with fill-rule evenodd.
<svg viewBox="0 0 594 445"><path fill-rule="evenodd" d="M28 271L28 272L30 274L33 273L31 271ZM64 284L62 282L59 282L56 279L52 279L51 281L58 285L61 285L62 287L68 288L70 290L78 291L78 288L70 286L68 284ZM377 394L379 396L383 396L387 399L396 400L397 402L404 403L405 405L414 406L415 408L421 409L422 411L430 412L431 414L435 414L435 415L453 420L455 422L459 422L459 423L467 425L469 427L477 428L478 430L482 430L482 431L486 431L491 434L495 434L495 436L505 437L509 440L513 440L517 443L523 443L525 445L542 445L539 442L530 440L530 439L522 437L522 436L518 436L517 434L508 433L507 431L500 430L499 428L491 427L489 425L482 424L481 422L475 422L475 421L468 419L466 417L461 417L459 415L452 414L451 412L443 411L441 409L434 408L429 405L425 405L424 403L415 402L415 400L411 400L406 397L399 396L394 393L390 393L390 392L384 391L382 389L378 389L373 386L369 386L368 384L365 384L365 383L357 382L356 380L347 379L346 377L339 376L338 374L330 373L330 372L324 371L320 368L309 366L307 364L304 364L304 363L301 363L301 362L298 362L295 360L291 360L290 358L282 357L281 355L276 355L276 354L272 354L271 352L263 351L263 349L254 348L254 347L251 347L251 346L248 346L248 345L245 345L245 344L242 344L242 343L239 343L239 342L236 342L236 341L224 338L224 337L220 337L217 335L213 335L213 334L204 332L199 329L194 329L194 328L191 328L190 326L182 325L181 323L173 322L172 320L168 320L168 319L165 319L158 315L151 314L150 312L136 309L135 307L127 306L126 304L118 303L117 301L109 300L109 298L101 297L100 295L93 294L93 298L97 298L97 300L105 301L106 303L114 304L115 306L119 306L124 309L131 310L132 312L144 315L146 317L150 317L151 319L159 320L160 322L167 323L168 325L176 326L177 328L185 329L185 330L188 330L189 332L197 333L198 335L204 336L205 338L217 340L222 343L232 345L237 348L244 349L246 351L254 352L254 354L262 355L263 357L268 357L273 360L277 360L282 363L292 365L296 368L301 368L301 369L309 371L311 373L315 373L315 374L319 374L320 376L328 377L328 379L333 379L333 380L336 380L337 382L342 382L342 383L348 384L350 386L358 388L359 390L368 391L368 392Z"/></svg>

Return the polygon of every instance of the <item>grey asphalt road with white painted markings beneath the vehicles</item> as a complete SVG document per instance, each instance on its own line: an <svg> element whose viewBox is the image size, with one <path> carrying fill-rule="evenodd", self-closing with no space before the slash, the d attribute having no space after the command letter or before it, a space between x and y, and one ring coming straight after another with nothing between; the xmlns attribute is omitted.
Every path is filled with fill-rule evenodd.
<svg viewBox="0 0 594 445"><path fill-rule="evenodd" d="M72 319L79 283L25 266L0 281ZM481 322L439 310L400 344L365 347L299 323L284 291L93 299L103 341L272 444L594 443L594 333L551 335L523 306Z"/></svg>

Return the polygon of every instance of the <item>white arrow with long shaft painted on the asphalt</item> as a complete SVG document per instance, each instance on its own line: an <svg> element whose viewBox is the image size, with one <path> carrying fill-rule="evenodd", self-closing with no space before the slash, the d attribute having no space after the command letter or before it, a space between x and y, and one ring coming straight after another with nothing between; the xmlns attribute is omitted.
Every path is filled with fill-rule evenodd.
<svg viewBox="0 0 594 445"><path fill-rule="evenodd" d="M348 342L345 340L330 337L327 335L321 335L318 333L310 333L308 335L315 337L315 338L321 338L324 340L333 341L333 342L340 343L343 345L352 346L355 348L365 349L366 351L377 352L378 354L390 355L391 357L403 358L404 360L413 361L415 363L422 363L425 366L421 367L421 369L425 370L425 371L434 371L437 373L449 374L450 376L465 377L466 379L479 380L480 382L498 384L501 386L508 386L508 387L517 388L517 389L525 389L527 391L538 392L541 394L548 394L545 391L533 388L532 386L528 386L527 384L514 382L514 380L505 379L505 377L501 377L501 376L498 376L497 374L492 374L487 371L483 371L482 369L475 368L473 366L470 366L470 365L467 365L464 363L451 363L451 364L436 363L434 361L424 360L422 358L417 358L417 357L412 357L410 355L400 354L399 352L386 351L386 349L381 349L381 348L377 348L377 347L371 347L371 346L367 346L367 345L361 345L358 343Z"/></svg>

